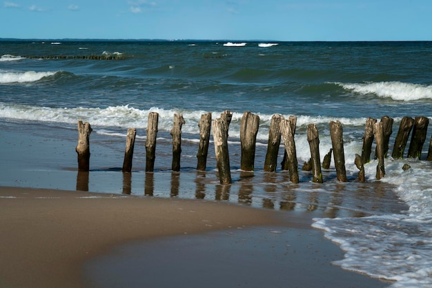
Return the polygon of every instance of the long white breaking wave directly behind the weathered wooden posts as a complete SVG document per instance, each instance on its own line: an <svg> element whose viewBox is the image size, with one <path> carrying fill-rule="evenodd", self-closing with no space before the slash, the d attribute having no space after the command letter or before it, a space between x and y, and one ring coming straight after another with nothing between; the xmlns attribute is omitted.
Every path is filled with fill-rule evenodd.
<svg viewBox="0 0 432 288"><path fill-rule="evenodd" d="M147 126L148 114L157 112L159 114L159 130L170 131L173 125L173 116L175 113L183 114L186 123L182 127L184 133L199 134L198 123L202 114L208 111L202 110L180 110L180 109L163 109L160 107L150 107L149 109L138 109L129 105L110 106L106 108L99 107L38 107L31 105L16 105L9 103L0 103L0 117L8 119L17 119L23 121L41 121L75 124L78 119L88 121L90 124L100 127L135 127L145 129ZM211 112L213 119L218 118L222 112ZM259 132L257 139L266 141L268 139L268 129L271 124L273 114L260 114ZM233 138L239 138L240 122L243 113L233 112L230 124L229 134ZM286 119L290 115L282 115ZM327 127L330 121L340 121L342 125L362 127L366 118L348 119L324 116L297 116L297 130L300 132L306 130L309 123L315 123Z"/></svg>

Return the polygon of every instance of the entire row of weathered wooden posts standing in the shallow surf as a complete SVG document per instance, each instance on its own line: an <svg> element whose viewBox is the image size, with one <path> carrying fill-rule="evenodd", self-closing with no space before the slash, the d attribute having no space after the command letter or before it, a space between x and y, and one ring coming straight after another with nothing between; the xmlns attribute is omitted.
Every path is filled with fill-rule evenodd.
<svg viewBox="0 0 432 288"><path fill-rule="evenodd" d="M232 183L230 174L230 158L228 154L228 127L233 114L226 110L222 112L220 118L212 121L211 113L202 114L199 121L199 149L197 152L197 170L204 171L206 169L208 146L210 143L210 125L213 128L213 141L215 145L215 156L217 161L217 169L219 172L219 181L221 184ZM148 116L147 138L146 138L146 172L153 172L155 165L156 152L156 137L159 114L150 112ZM181 126L185 123L182 114L174 114L173 129L170 134L173 136L173 171L180 170L181 156ZM271 119L270 130L268 134L268 146L266 158L264 161L264 171L275 172L277 167L277 155L279 153L279 145L281 138L284 140L285 152L282 160L282 169L288 170L290 180L293 183L299 183L297 154L295 150L295 127L297 123L296 116L289 116L288 119L280 114L274 114ZM406 143L409 139L411 130L411 142L408 150L409 158L420 158L422 147L426 140L427 126L429 119L420 116L404 117L400 123L399 131L395 138L393 147L393 158L402 158ZM355 165L360 170L358 174L359 181L365 181L364 164L368 163L371 158L372 144L375 138L375 158L377 159L376 178L384 177L384 158L389 151L389 139L392 134L393 119L389 116L383 116L380 122L377 119L369 118L366 120L362 155L355 155ZM338 181L346 182L346 169L344 157L344 141L342 133L342 124L340 121L331 121L329 123L332 148L324 156L324 161L320 163L320 139L318 130L315 124L308 124L307 139L311 150L311 158L304 163L304 170L312 171L313 182L322 183L322 168L329 169L331 162L331 154L336 169L336 177ZM244 112L240 123L240 143L241 143L241 164L240 169L246 172L254 170L255 162L255 145L256 136L259 129L259 116L251 112ZM81 172L88 172L90 167L90 133L92 128L90 123L78 121L79 140L76 147L78 154L78 169ZM124 154L123 172L131 172L132 156L135 145L135 136L137 130L129 128L126 136L126 150ZM432 138L429 145L429 153L427 160L432 160Z"/></svg>

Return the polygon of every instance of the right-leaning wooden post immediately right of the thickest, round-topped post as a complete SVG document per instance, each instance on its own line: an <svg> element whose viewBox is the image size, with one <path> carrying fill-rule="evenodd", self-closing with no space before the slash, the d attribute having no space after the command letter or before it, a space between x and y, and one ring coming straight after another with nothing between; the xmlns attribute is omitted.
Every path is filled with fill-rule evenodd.
<svg viewBox="0 0 432 288"><path fill-rule="evenodd" d="M266 160L264 161L264 171L266 172L276 171L277 154L279 153L282 136L280 130L280 123L282 120L284 120L284 117L281 114L273 114L271 117L270 129L268 130Z"/></svg>

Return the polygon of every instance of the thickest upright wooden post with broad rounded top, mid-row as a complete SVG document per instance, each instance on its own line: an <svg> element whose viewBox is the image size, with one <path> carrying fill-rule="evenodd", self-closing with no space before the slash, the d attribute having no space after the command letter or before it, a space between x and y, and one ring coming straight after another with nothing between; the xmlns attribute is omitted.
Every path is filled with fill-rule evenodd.
<svg viewBox="0 0 432 288"><path fill-rule="evenodd" d="M244 112L240 121L240 145L242 154L240 158L240 169L253 171L255 164L255 147L259 129L259 116L251 112Z"/></svg>

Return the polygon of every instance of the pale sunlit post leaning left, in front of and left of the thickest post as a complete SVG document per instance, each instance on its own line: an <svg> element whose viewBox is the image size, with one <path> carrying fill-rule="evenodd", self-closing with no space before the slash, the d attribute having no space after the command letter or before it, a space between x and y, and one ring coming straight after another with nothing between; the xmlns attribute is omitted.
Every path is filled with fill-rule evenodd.
<svg viewBox="0 0 432 288"><path fill-rule="evenodd" d="M218 118L212 121L212 128L219 182L230 184L232 181L228 154L228 123L224 119Z"/></svg>

